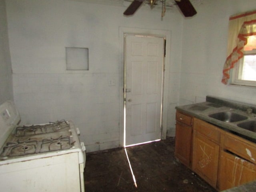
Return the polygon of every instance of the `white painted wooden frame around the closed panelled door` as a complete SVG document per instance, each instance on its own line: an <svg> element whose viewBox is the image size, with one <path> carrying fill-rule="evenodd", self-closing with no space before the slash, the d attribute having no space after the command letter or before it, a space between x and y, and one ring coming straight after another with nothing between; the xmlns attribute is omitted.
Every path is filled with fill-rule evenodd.
<svg viewBox="0 0 256 192"><path fill-rule="evenodd" d="M120 120L119 120L119 146L124 146L124 36L126 34L143 35L143 36L156 36L162 37L166 40L166 53L170 53L171 45L171 31L170 30L154 30L144 28L130 28L119 27L119 90L120 90ZM169 87L169 74L170 74L170 54L166 54L164 58L164 72L163 72L163 84L162 84L162 130L161 139L166 139L167 131L167 113L168 113L168 87Z"/></svg>

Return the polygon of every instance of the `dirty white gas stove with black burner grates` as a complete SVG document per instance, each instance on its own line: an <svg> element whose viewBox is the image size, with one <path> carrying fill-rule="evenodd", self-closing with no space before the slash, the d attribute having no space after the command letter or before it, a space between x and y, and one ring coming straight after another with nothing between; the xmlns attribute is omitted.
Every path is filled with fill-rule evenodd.
<svg viewBox="0 0 256 192"><path fill-rule="evenodd" d="M72 121L19 126L12 101L0 105L0 188L84 192L85 146Z"/></svg>

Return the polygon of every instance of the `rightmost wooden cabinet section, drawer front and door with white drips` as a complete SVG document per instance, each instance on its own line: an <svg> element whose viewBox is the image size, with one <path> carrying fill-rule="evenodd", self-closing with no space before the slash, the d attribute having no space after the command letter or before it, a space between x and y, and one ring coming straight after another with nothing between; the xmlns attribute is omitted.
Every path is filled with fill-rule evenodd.
<svg viewBox="0 0 256 192"><path fill-rule="evenodd" d="M226 190L256 180L256 144L230 133L220 151L218 189Z"/></svg>

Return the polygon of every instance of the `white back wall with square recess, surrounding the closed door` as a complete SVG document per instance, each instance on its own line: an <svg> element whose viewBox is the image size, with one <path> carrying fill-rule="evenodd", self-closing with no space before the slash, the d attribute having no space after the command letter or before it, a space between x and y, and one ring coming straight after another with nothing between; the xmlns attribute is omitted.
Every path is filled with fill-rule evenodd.
<svg viewBox="0 0 256 192"><path fill-rule="evenodd" d="M87 152L119 146L122 126L122 65L119 29L168 30L169 94L165 116L174 125L178 104L182 16L140 9L124 17L124 6L83 0L8 0L8 35L14 101L21 124L65 118L80 128ZM136 30L134 30L136 31ZM89 71L66 71L65 47L89 48ZM114 80L115 86L108 81Z"/></svg>

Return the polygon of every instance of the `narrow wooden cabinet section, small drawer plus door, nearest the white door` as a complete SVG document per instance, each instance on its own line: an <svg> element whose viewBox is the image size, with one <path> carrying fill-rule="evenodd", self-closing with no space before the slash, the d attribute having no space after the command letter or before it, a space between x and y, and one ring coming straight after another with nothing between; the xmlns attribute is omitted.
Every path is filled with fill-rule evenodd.
<svg viewBox="0 0 256 192"><path fill-rule="evenodd" d="M184 165L192 166L192 117L176 112L175 156Z"/></svg>

